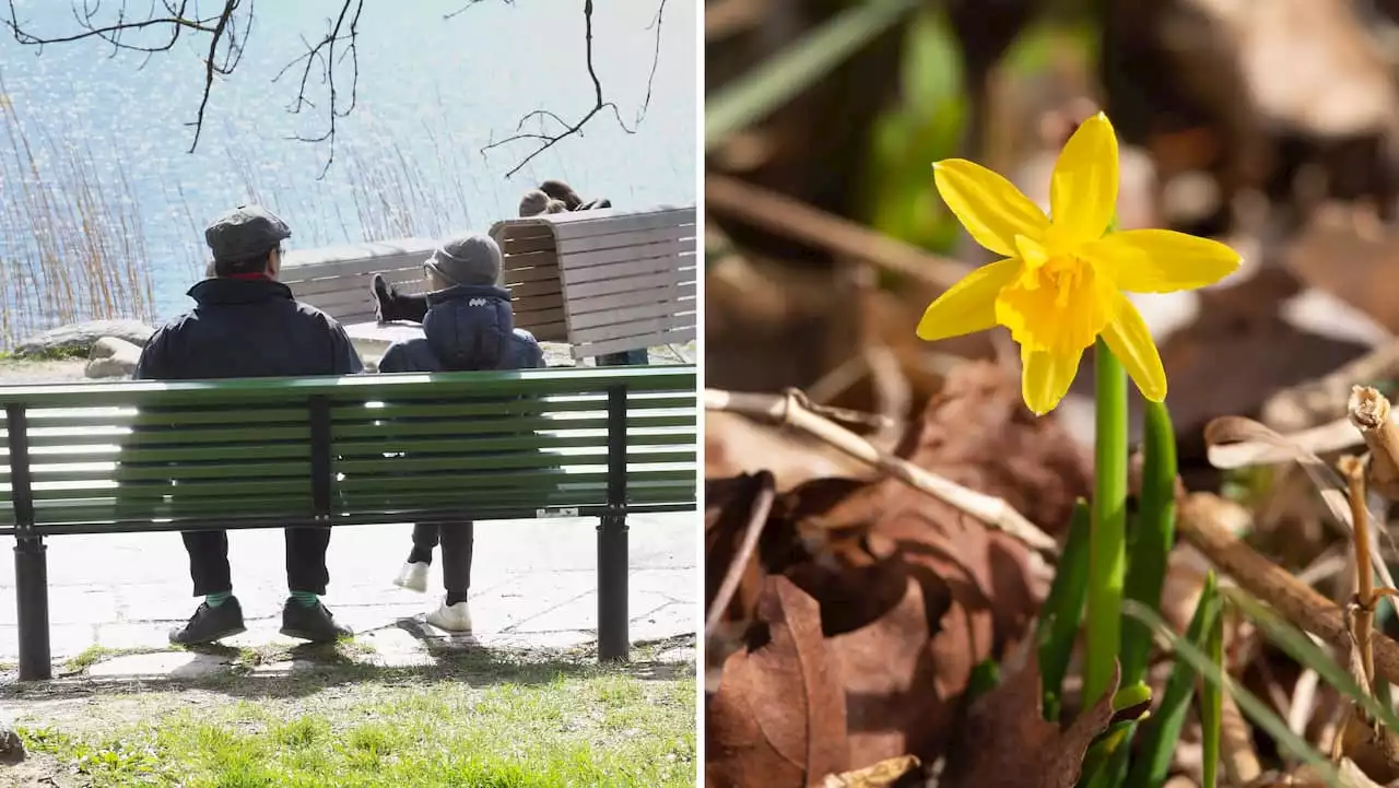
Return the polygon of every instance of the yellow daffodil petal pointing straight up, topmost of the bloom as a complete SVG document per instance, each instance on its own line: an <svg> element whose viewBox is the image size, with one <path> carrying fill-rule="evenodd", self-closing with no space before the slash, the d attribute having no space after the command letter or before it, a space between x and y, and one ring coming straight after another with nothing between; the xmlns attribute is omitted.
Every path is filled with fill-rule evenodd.
<svg viewBox="0 0 1399 788"><path fill-rule="evenodd" d="M1118 137L1107 115L1083 122L1059 151L1049 181L1051 231L1063 244L1097 241L1118 206Z"/></svg>

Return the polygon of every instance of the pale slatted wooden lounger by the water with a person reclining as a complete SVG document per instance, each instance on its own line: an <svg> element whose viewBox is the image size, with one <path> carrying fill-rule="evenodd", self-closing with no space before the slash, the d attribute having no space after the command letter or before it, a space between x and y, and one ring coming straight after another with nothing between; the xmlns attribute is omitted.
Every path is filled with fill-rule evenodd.
<svg viewBox="0 0 1399 788"><path fill-rule="evenodd" d="M695 209L603 209L495 223L502 284L515 325L540 342L572 346L575 361L695 339ZM436 241L404 238L291 251L281 281L341 323L375 319L369 283L379 273L422 293L422 260Z"/></svg>

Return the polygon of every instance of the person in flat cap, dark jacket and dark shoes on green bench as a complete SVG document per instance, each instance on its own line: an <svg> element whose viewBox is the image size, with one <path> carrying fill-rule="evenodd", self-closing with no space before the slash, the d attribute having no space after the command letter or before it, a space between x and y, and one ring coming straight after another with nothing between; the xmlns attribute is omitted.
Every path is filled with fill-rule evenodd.
<svg viewBox="0 0 1399 788"><path fill-rule="evenodd" d="M214 277L190 288L194 308L155 332L137 379L187 381L290 375L348 375L362 371L344 329L329 315L297 302L277 281L281 244L291 230L271 211L239 206L218 217L204 239L214 253ZM309 641L333 641L350 630L320 603L326 592L329 528L288 528L287 585L281 631ZM213 642L245 630L232 595L228 535L183 533L194 595L204 602L189 623L171 631L178 644Z"/></svg>

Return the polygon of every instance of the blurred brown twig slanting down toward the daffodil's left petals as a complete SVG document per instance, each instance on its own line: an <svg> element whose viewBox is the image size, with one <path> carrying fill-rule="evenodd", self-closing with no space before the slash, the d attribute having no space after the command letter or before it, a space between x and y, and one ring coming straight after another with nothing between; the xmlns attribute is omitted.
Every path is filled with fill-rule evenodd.
<svg viewBox="0 0 1399 788"><path fill-rule="evenodd" d="M912 244L737 178L711 172L704 178L704 189L705 207L709 210L835 255L874 263L942 290L957 284L972 270L963 262L925 252Z"/></svg>

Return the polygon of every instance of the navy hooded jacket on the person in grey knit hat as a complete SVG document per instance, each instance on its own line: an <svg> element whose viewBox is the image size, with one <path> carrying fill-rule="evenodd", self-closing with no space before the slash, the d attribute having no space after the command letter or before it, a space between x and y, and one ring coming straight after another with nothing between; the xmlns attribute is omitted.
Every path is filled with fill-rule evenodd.
<svg viewBox="0 0 1399 788"><path fill-rule="evenodd" d="M459 284L428 294L422 337L397 342L379 360L381 372L534 370L544 350L515 328L511 294L501 287Z"/></svg>

